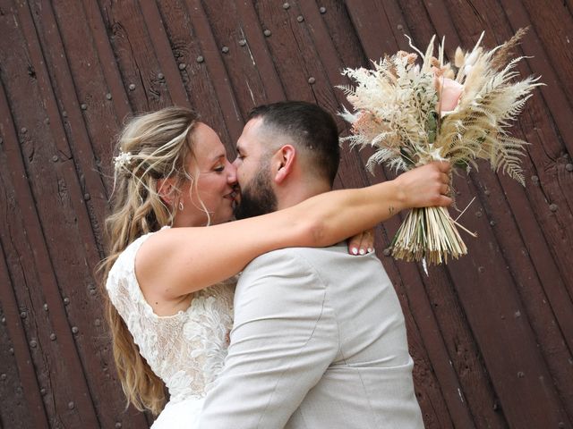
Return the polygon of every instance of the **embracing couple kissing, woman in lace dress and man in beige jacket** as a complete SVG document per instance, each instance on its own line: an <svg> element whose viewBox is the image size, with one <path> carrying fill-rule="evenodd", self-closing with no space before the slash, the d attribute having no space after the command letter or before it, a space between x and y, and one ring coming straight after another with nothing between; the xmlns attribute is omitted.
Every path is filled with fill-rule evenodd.
<svg viewBox="0 0 573 429"><path fill-rule="evenodd" d="M336 122L304 102L255 108L236 148L179 107L120 136L103 270L127 400L159 429L423 427L396 292L345 240L448 206L449 164L332 191Z"/></svg>

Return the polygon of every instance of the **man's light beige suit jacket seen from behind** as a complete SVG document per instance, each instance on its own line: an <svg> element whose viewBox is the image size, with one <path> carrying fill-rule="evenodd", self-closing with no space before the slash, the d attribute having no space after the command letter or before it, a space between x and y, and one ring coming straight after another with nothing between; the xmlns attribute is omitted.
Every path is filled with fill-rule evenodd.
<svg viewBox="0 0 573 429"><path fill-rule="evenodd" d="M398 297L373 254L286 248L235 291L231 344L200 425L423 428Z"/></svg>

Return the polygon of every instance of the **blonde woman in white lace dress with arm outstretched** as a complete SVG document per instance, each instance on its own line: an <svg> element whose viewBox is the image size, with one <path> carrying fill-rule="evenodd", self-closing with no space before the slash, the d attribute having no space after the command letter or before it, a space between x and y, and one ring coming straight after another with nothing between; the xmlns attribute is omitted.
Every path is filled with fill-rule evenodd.
<svg viewBox="0 0 573 429"><path fill-rule="evenodd" d="M332 245L388 219L392 206L431 206L444 186L429 164L394 181L230 223L240 199L235 167L216 132L191 110L133 118L118 152L102 262L107 321L128 404L160 412L157 429L192 427L201 412L227 354L234 276L254 257Z"/></svg>

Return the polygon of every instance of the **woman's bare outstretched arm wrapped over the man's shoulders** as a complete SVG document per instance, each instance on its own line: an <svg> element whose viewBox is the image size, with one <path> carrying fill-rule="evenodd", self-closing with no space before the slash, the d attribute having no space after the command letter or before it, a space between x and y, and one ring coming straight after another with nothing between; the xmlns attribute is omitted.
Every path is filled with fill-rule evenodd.
<svg viewBox="0 0 573 429"><path fill-rule="evenodd" d="M138 280L146 296L174 300L239 273L270 250L329 246L404 208L447 206L451 200L441 194L448 170L449 164L429 164L393 181L325 192L271 214L159 231L138 252Z"/></svg>

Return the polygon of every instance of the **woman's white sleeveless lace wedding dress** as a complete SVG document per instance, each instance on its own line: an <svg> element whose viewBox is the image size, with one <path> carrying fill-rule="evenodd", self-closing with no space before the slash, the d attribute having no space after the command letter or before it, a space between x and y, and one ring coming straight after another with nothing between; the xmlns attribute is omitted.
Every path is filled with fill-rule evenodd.
<svg viewBox="0 0 573 429"><path fill-rule="evenodd" d="M151 427L192 428L227 356L236 279L195 292L185 311L156 315L135 278L135 256L152 233L133 241L117 258L106 289L141 356L169 390L169 402Z"/></svg>

